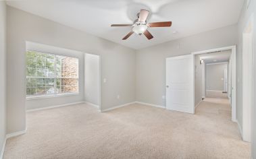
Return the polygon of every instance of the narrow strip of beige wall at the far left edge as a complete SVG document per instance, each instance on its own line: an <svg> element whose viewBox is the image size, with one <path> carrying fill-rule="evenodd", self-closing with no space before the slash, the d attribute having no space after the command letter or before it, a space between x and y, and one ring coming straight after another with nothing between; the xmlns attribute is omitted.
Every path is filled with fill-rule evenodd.
<svg viewBox="0 0 256 159"><path fill-rule="evenodd" d="M0 158L6 128L6 5L0 1Z"/></svg>

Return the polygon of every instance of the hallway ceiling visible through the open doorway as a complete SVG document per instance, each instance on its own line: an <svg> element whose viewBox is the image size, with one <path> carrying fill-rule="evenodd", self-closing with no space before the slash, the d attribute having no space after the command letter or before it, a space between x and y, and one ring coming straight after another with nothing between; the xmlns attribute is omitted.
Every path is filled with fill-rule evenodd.
<svg viewBox="0 0 256 159"><path fill-rule="evenodd" d="M230 59L231 50L228 51L220 51L215 53L205 53L199 55L200 59L202 59L205 63L222 63L227 62Z"/></svg>

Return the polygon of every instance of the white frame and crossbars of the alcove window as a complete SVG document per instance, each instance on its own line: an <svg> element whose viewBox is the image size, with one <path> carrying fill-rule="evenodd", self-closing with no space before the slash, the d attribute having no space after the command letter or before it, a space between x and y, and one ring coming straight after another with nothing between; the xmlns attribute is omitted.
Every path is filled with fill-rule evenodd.
<svg viewBox="0 0 256 159"><path fill-rule="evenodd" d="M59 56L62 56L62 57L72 57L72 58L78 59L78 66L77 66L78 67L77 68L77 70L78 70L78 77L74 78L74 79L78 79L78 92L59 93L59 94L55 92L54 94L43 94L43 95L39 95L39 96L36 96L36 95L35 96L27 96L26 95L26 100L39 99L39 98L55 98L55 97L61 97L61 96L76 96L76 95L80 94L80 89L79 89L80 88L80 86L79 86L79 83L80 83L80 75L79 75L79 64L80 64L80 61L79 61L78 57L73 57L73 56L69 56L69 55L68 56L67 55L60 55L60 54L55 54L55 53L47 53L47 52L44 52L44 51L36 51L36 50L31 50L31 49L26 50L26 53L28 51L34 51L36 53L44 53L44 54L55 55L55 56L59 55ZM55 65L54 67L56 67L56 63L54 63L54 65ZM56 69L55 69L55 71L56 71ZM57 73L55 72L55 75L56 74ZM40 78L40 77L34 77L34 78ZM56 90L56 79L57 78L61 79L62 77L55 76L55 77L42 77L42 78L54 78L54 90ZM72 77L69 77L69 78L72 78ZM27 75L26 75L26 79L27 79Z"/></svg>

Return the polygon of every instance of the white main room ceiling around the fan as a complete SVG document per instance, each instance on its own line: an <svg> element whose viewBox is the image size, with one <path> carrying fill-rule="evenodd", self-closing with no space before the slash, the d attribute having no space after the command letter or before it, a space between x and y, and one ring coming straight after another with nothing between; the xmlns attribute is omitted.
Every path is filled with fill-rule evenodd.
<svg viewBox="0 0 256 159"><path fill-rule="evenodd" d="M19 0L7 5L88 32L133 49L236 24L244 0ZM122 38L140 9L149 9L148 22L172 21L171 28L149 28L154 38L133 34ZM173 34L173 32L177 32Z"/></svg>

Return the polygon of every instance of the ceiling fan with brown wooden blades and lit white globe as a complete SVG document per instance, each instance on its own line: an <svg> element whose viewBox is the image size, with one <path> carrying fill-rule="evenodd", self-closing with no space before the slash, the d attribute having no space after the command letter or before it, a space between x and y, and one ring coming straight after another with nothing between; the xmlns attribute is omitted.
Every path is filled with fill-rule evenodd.
<svg viewBox="0 0 256 159"><path fill-rule="evenodd" d="M153 38L153 35L147 30L151 27L170 27L172 22L154 22L147 23L147 17L149 11L146 9L140 9L140 13L137 14L138 19L134 20L133 24L112 24L111 26L132 26L132 31L129 32L122 40L129 38L134 32L138 35L144 34L149 40Z"/></svg>

